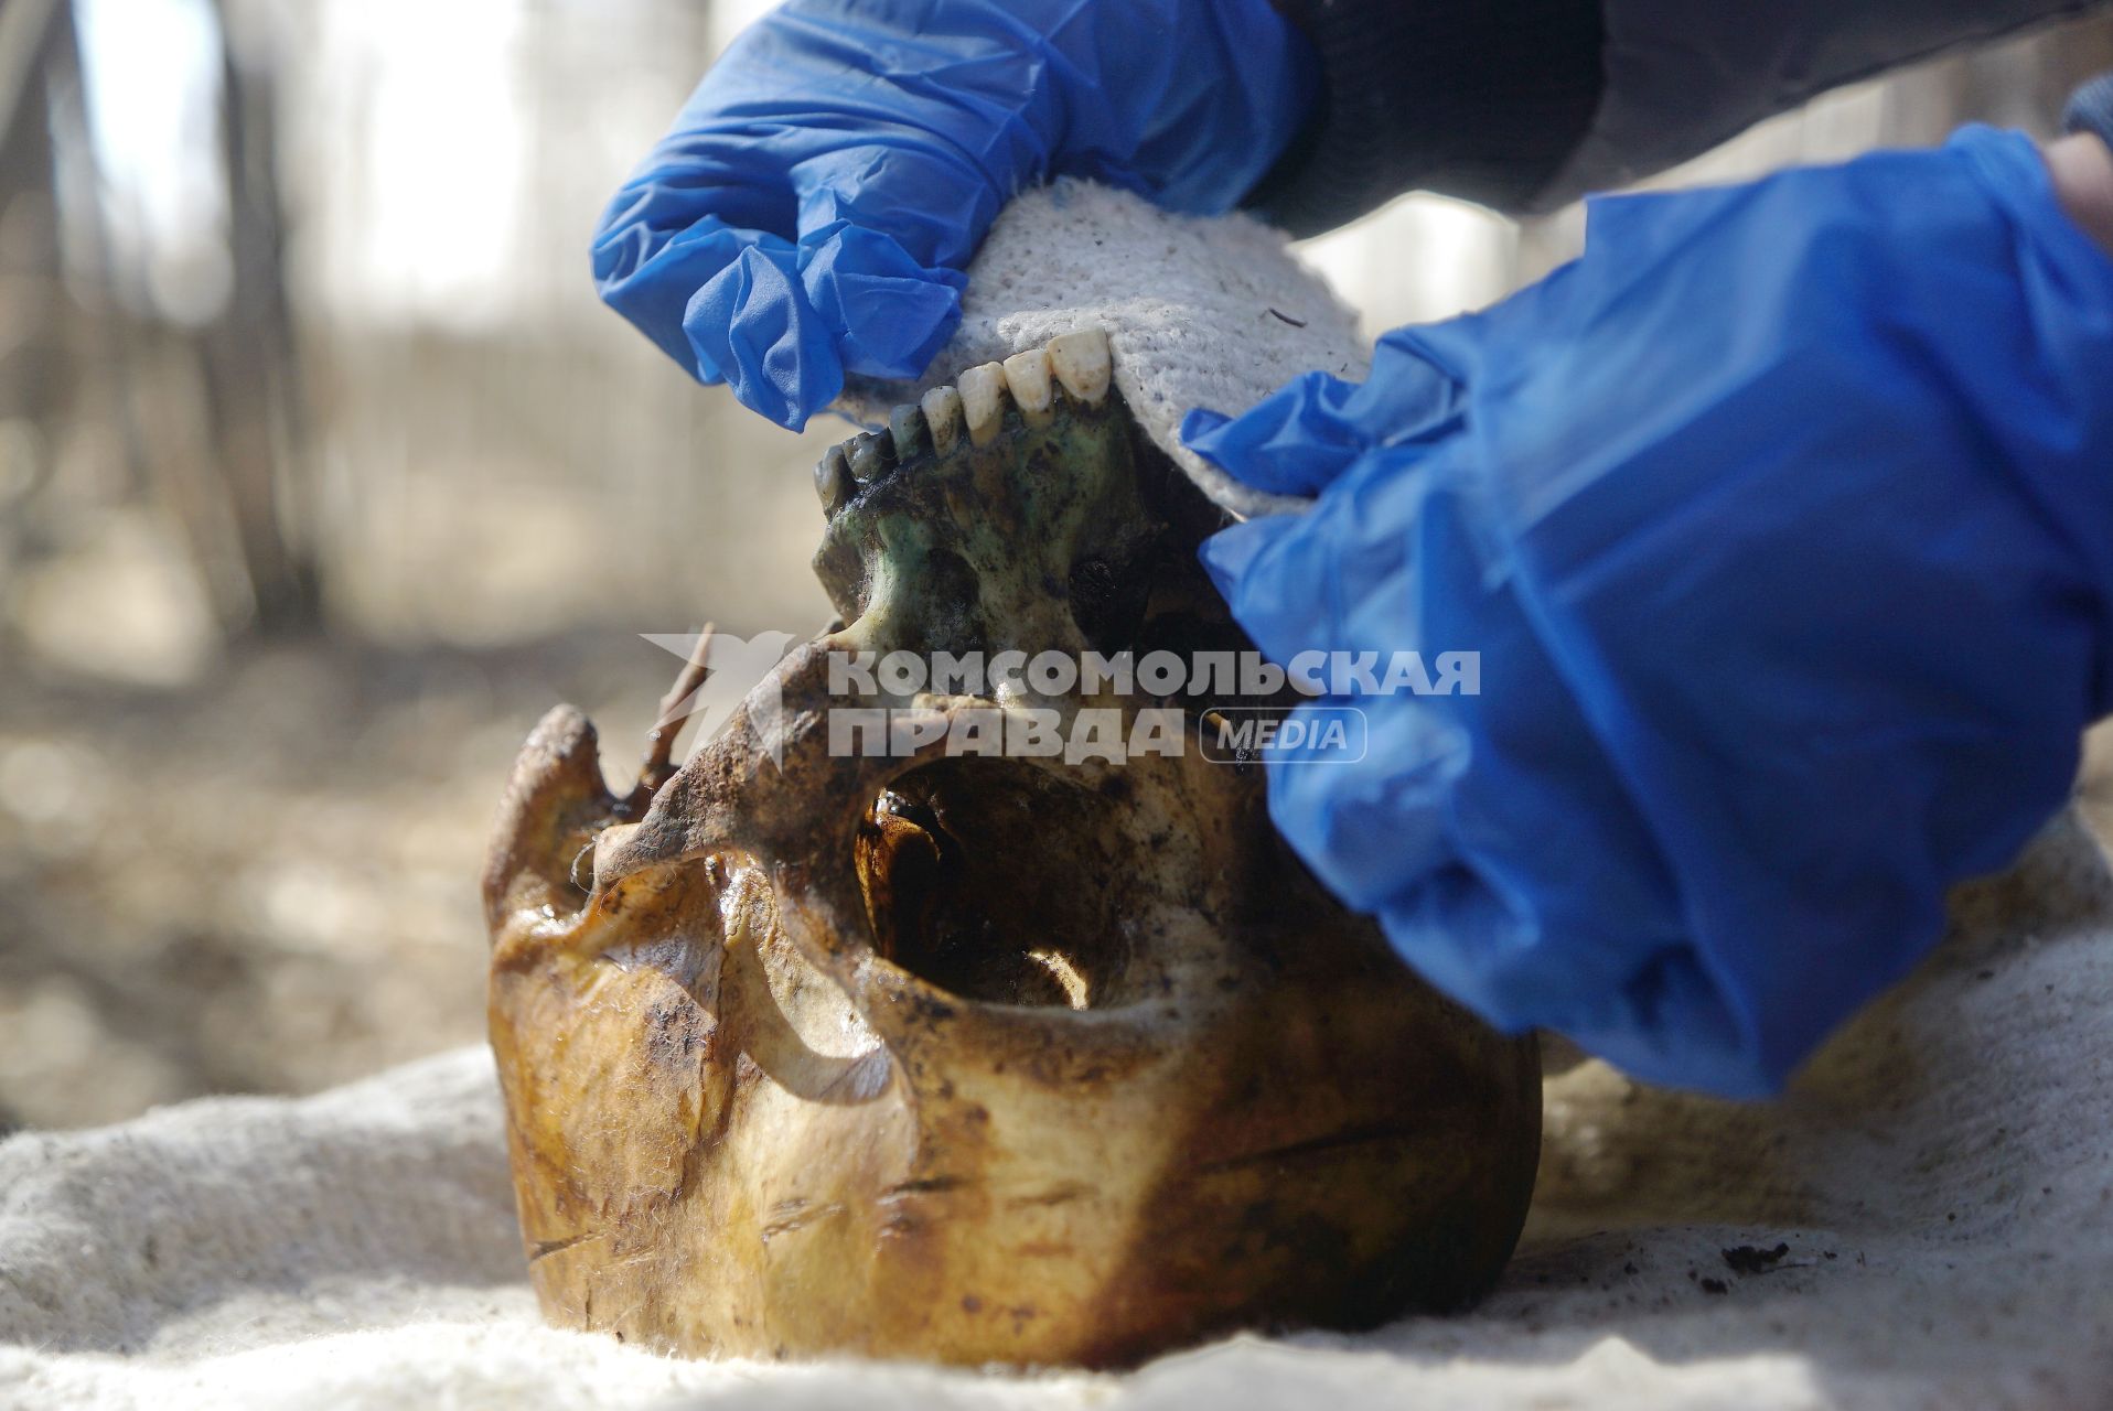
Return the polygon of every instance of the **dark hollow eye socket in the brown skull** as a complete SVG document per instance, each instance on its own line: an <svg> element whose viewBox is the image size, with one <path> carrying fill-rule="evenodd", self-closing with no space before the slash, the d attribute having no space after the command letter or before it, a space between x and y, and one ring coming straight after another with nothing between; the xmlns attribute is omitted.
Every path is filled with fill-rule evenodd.
<svg viewBox="0 0 2113 1411"><path fill-rule="evenodd" d="M976 767L970 767L976 765ZM1099 1010L1126 942L1082 790L1002 760L942 760L883 790L854 843L881 957L961 999Z"/></svg>

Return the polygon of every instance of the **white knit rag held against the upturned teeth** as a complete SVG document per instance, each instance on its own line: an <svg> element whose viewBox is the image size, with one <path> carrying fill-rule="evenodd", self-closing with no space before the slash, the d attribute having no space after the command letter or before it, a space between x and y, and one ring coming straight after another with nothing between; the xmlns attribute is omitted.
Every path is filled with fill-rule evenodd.
<svg viewBox="0 0 2113 1411"><path fill-rule="evenodd" d="M1145 433L1221 507L1251 518L1304 507L1261 494L1181 446L1192 408L1234 416L1308 370L1363 378L1357 315L1283 232L1247 215L1168 215L1141 196L1059 182L1006 207L970 268L961 327L921 382L854 380L839 403L881 425L887 408L964 368L1105 327L1116 391Z"/></svg>

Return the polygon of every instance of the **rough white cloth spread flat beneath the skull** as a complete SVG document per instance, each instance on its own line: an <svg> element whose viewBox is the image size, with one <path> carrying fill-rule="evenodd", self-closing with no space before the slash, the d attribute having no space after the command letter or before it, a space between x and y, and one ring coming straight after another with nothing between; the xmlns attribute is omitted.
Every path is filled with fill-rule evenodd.
<svg viewBox="0 0 2113 1411"><path fill-rule="evenodd" d="M543 1327L482 1050L23 1134L0 1405L2107 1405L2113 874L2073 820L1965 891L1783 1100L1600 1065L1549 1092L1528 1244L1479 1310L1105 1377L682 1362ZM1764 1272L1722 1257L1777 1244Z"/></svg>

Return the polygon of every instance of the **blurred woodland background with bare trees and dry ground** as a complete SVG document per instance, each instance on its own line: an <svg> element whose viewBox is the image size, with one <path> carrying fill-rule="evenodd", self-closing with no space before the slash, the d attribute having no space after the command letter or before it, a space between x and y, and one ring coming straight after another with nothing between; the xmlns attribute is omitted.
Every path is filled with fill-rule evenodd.
<svg viewBox="0 0 2113 1411"><path fill-rule="evenodd" d="M807 634L790 435L606 313L587 237L756 0L0 0L0 1130L484 1031L475 877L568 699ZM2045 133L2113 25L1830 95L1654 184ZM1310 241L1367 332L1576 251L1409 196Z"/></svg>

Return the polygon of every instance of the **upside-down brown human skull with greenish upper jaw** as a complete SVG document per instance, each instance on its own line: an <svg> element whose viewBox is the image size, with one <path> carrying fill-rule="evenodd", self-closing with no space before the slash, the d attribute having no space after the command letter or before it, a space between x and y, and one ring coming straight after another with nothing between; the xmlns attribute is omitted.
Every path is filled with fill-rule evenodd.
<svg viewBox="0 0 2113 1411"><path fill-rule="evenodd" d="M830 682L833 653L1245 646L1196 568L1213 511L1105 338L970 370L818 486L843 625L625 796L554 710L501 809L490 1029L545 1314L685 1354L1101 1367L1483 1293L1532 1191L1532 1039L1335 904L1253 765L947 744L970 712L1194 731L1207 701ZM875 708L949 729L833 748Z"/></svg>

